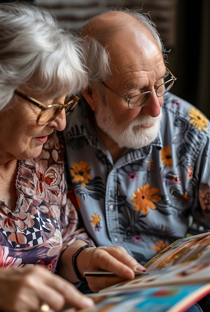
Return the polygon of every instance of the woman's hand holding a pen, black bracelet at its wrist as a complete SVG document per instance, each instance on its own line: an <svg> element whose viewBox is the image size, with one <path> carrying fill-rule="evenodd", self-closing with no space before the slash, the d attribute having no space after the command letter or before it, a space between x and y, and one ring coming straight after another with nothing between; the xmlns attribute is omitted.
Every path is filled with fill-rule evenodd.
<svg viewBox="0 0 210 312"><path fill-rule="evenodd" d="M78 282L78 279L72 268L72 255L83 245L85 245L84 242L75 241L60 258L59 274L73 283ZM87 277L88 286L93 292L124 280L133 279L134 271L145 271L145 268L120 246L85 248L77 256L76 263L81 276L85 270L104 270L115 273L116 277ZM73 276L74 280L72 280Z"/></svg>

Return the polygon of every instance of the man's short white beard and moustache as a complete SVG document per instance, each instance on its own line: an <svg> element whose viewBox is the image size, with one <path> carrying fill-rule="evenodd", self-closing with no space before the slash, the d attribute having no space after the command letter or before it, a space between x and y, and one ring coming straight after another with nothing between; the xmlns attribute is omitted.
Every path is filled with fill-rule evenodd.
<svg viewBox="0 0 210 312"><path fill-rule="evenodd" d="M149 145L157 138L160 129L162 114L151 117L139 114L128 125L116 124L110 107L100 103L95 112L98 126L106 133L120 148L140 149ZM153 124L151 127L142 128L143 125Z"/></svg>

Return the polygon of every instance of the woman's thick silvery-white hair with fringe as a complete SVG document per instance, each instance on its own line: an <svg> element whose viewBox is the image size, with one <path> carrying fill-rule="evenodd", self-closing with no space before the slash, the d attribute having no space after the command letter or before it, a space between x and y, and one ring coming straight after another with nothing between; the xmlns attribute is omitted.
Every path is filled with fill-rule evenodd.
<svg viewBox="0 0 210 312"><path fill-rule="evenodd" d="M80 41L37 5L0 3L0 110L17 88L52 97L85 88Z"/></svg>

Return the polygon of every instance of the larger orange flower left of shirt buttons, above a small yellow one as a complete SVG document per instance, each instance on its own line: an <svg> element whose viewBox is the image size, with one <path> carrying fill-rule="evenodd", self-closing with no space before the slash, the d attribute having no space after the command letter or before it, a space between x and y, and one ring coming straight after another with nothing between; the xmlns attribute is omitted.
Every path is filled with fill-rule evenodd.
<svg viewBox="0 0 210 312"><path fill-rule="evenodd" d="M83 187L85 187L86 184L92 180L90 175L91 167L87 161L81 160L80 163L74 162L74 165L69 171L71 175L74 176L72 182L81 183Z"/></svg>

